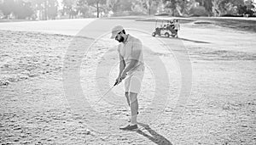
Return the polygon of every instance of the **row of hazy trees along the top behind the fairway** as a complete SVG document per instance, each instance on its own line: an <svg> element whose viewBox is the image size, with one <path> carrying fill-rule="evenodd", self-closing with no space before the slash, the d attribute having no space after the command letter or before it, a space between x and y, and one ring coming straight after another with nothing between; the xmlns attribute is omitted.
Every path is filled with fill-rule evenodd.
<svg viewBox="0 0 256 145"><path fill-rule="evenodd" d="M172 16L255 15L253 0L0 0L0 16L54 20L168 14Z"/></svg>

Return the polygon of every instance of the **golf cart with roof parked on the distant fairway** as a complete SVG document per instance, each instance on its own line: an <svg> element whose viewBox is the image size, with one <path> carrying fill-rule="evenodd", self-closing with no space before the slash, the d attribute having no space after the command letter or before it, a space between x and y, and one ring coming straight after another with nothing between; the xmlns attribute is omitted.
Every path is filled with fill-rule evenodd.
<svg viewBox="0 0 256 145"><path fill-rule="evenodd" d="M164 18L156 18L155 19L155 29L152 33L152 36L172 36L177 37L177 31L174 30L174 25L172 21L175 19L164 17ZM161 22L161 25L157 25L158 21ZM165 22L165 24L164 24Z"/></svg>

